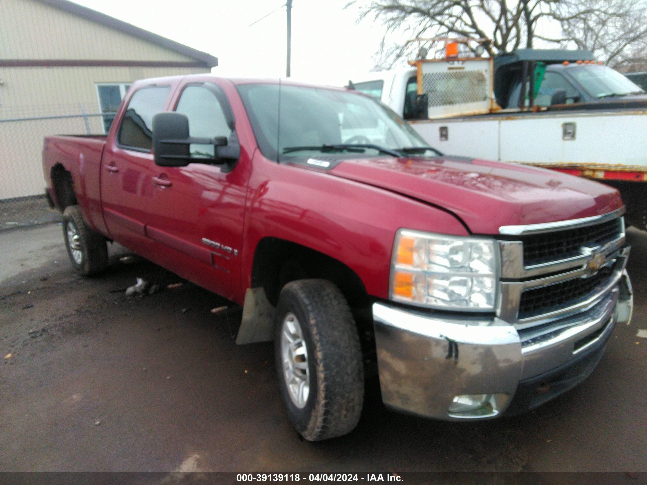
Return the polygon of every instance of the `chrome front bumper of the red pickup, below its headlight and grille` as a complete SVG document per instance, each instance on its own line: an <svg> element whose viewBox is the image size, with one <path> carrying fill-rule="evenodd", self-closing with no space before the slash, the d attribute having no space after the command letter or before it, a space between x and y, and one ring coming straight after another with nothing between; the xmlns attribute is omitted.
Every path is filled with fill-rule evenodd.
<svg viewBox="0 0 647 485"><path fill-rule="evenodd" d="M374 303L384 404L441 420L493 418L505 413L518 386L556 369L567 369L570 362L581 361L586 354L602 352L614 325L629 322L633 297L625 263L622 261L618 268L617 284L595 305L543 323L541 329L518 330L499 318L432 314ZM595 363L587 367L587 372ZM562 385L559 393L586 376L588 373L579 380L571 379L572 385ZM476 394L491 395L489 412L450 413L455 396Z"/></svg>

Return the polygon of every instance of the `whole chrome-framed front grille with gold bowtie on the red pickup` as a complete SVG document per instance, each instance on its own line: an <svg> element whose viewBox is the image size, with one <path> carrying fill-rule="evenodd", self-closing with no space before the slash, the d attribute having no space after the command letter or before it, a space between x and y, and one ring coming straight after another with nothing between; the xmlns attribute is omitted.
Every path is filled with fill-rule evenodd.
<svg viewBox="0 0 647 485"><path fill-rule="evenodd" d="M498 241L496 314L518 330L539 328L597 305L617 286L630 251L622 210L571 221L501 226L499 233L507 237Z"/></svg>

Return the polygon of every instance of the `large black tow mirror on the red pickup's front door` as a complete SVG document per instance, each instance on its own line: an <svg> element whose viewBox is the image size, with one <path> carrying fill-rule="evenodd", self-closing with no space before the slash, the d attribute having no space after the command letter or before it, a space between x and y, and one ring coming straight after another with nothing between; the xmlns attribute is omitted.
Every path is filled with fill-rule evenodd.
<svg viewBox="0 0 647 485"><path fill-rule="evenodd" d="M214 158L192 157L192 144L213 145ZM226 136L189 136L186 114L164 111L153 116L153 157L160 167L186 167L190 163L225 164L228 160L238 160L239 156L240 146L228 146Z"/></svg>

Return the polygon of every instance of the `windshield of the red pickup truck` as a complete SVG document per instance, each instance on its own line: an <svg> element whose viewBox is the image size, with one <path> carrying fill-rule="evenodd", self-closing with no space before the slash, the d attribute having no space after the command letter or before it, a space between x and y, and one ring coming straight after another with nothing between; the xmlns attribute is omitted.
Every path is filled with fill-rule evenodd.
<svg viewBox="0 0 647 485"><path fill-rule="evenodd" d="M353 157L439 155L397 114L356 92L278 84L237 88L259 148L270 160L323 151Z"/></svg>

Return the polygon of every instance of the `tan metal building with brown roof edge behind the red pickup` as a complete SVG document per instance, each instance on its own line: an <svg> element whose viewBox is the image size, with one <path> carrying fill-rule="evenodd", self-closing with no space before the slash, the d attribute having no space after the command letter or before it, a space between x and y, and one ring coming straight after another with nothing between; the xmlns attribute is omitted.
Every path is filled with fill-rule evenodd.
<svg viewBox="0 0 647 485"><path fill-rule="evenodd" d="M217 64L67 0L0 0L0 200L43 193L43 136L105 133L131 82Z"/></svg>

